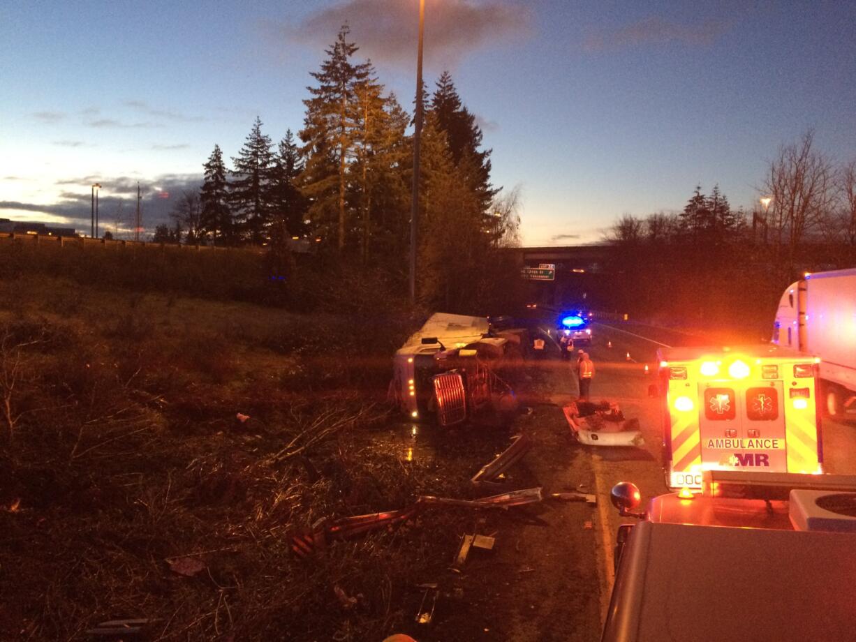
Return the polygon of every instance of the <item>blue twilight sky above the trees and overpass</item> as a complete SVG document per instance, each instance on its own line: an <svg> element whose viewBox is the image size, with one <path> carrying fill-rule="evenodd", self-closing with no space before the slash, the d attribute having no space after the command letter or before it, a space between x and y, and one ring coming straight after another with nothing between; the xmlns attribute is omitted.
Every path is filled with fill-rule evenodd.
<svg viewBox="0 0 856 642"><path fill-rule="evenodd" d="M344 21L409 108L418 0L3 3L0 217L152 231L215 144L275 142ZM449 69L520 186L526 245L597 241L700 183L751 209L778 146L815 128L856 158L856 3L427 0L425 80ZM156 188L170 193L158 199Z"/></svg>

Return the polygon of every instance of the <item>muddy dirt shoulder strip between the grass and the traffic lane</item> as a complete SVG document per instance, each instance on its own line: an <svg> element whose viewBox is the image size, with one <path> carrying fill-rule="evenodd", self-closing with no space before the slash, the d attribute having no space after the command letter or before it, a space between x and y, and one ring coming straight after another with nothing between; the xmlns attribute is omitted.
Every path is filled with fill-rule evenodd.
<svg viewBox="0 0 856 642"><path fill-rule="evenodd" d="M568 365L559 360L527 361L530 381L520 398L532 407L514 429L532 439L532 449L509 470L509 488L543 486L593 492L591 464L570 437L561 403L576 393ZM445 443L454 435L438 437ZM474 462L475 463L475 462ZM443 468L440 464L441 470ZM408 622L403 631L427 640L592 640L600 635L595 507L548 500L510 508L501 515L473 517L470 532L493 534L495 549L474 550L461 573L450 566L455 550L430 551L442 563L425 574L437 583L433 621ZM463 532L459 533L460 535ZM408 601L431 591L413 591Z"/></svg>

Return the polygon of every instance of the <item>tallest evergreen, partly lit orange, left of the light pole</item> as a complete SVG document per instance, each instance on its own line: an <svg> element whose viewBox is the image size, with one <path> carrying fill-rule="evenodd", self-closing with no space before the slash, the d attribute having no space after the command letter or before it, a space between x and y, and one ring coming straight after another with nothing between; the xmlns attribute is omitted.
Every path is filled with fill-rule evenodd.
<svg viewBox="0 0 856 642"><path fill-rule="evenodd" d="M306 158L301 184L312 199L309 215L325 235L335 229L339 252L348 234L348 161L359 136L356 89L369 75L368 64L351 62L359 48L348 42L349 31L342 26L321 70L312 72L318 86L307 87L312 98L303 101L306 118L300 130L300 152Z"/></svg>

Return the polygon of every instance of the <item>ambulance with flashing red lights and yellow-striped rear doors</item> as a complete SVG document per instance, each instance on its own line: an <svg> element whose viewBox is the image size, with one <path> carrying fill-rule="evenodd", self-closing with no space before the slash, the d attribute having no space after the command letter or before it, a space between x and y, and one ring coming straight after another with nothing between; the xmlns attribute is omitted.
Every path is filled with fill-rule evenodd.
<svg viewBox="0 0 856 642"><path fill-rule="evenodd" d="M817 363L777 346L661 348L659 396L669 488L702 473L823 473Z"/></svg>

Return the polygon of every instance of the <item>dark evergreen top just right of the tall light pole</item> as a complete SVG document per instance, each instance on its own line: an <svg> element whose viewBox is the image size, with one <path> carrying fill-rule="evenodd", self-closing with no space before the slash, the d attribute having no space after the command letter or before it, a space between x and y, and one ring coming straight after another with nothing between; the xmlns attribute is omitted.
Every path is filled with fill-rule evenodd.
<svg viewBox="0 0 856 642"><path fill-rule="evenodd" d="M445 132L455 167L479 199L484 215L489 215L490 201L498 190L490 185L490 150L480 150L482 131L475 116L461 103L455 83L448 71L437 80L431 97L431 111L437 127Z"/></svg>

